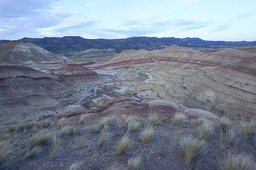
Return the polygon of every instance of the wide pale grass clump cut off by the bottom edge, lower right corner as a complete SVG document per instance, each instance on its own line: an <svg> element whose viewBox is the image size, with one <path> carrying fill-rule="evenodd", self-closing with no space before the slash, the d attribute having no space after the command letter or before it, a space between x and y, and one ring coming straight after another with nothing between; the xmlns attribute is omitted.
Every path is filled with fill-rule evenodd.
<svg viewBox="0 0 256 170"><path fill-rule="evenodd" d="M254 170L256 169L256 164L254 158L250 155L228 155L228 158L221 162L221 169L224 170Z"/></svg>

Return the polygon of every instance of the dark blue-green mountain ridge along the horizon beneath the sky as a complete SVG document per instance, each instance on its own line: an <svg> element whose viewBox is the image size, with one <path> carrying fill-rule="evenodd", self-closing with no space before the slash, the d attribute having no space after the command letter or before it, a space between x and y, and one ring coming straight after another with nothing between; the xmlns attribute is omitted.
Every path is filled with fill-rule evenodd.
<svg viewBox="0 0 256 170"><path fill-rule="evenodd" d="M0 42L1 41L2 40L0 40ZM110 54L117 54L122 50L156 50L164 49L170 45L179 45L185 48L193 49L234 48L240 46L256 45L256 41L205 41L199 38L189 37L184 39L175 37L129 37L127 39L84 39L80 36L65 36L44 37L43 39L24 37L23 39L20 39L20 41L32 42L50 52L60 54L65 57L73 56L77 53L82 53L78 55L78 57L81 57L85 54L84 50L88 49L93 49L94 51L96 51L96 53L99 53L99 51L101 50L102 54L98 54L98 56L104 56L104 54L106 54L106 56L110 56ZM102 52L102 49L106 49L107 52Z"/></svg>

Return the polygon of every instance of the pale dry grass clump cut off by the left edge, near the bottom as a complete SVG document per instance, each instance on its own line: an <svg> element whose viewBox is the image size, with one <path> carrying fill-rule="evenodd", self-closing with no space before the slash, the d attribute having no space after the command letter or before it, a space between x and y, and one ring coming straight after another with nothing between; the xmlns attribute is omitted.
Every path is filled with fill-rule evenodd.
<svg viewBox="0 0 256 170"><path fill-rule="evenodd" d="M12 152L10 141L0 141L0 166L10 158Z"/></svg>

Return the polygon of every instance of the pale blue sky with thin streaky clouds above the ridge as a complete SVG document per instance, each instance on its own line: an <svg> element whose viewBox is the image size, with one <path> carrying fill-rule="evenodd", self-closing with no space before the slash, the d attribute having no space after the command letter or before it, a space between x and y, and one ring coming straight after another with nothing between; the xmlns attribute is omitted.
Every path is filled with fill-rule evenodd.
<svg viewBox="0 0 256 170"><path fill-rule="evenodd" d="M0 0L0 40L81 36L255 41L255 0Z"/></svg>

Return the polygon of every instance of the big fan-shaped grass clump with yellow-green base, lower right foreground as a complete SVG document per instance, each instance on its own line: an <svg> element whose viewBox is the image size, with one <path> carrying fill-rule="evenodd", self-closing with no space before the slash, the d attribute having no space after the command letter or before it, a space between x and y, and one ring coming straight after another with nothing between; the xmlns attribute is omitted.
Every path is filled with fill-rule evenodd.
<svg viewBox="0 0 256 170"><path fill-rule="evenodd" d="M205 146L204 141L199 141L191 136L182 137L179 143L184 152L185 164L189 164L195 156L199 155L203 151Z"/></svg>

